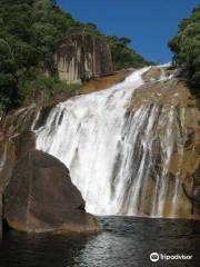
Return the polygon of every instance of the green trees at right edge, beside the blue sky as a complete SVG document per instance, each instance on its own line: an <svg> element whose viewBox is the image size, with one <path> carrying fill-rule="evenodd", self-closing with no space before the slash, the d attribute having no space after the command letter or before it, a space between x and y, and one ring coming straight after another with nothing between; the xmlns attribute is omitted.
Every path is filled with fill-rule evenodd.
<svg viewBox="0 0 200 267"><path fill-rule="evenodd" d="M174 65L183 67L193 88L200 87L200 6L190 18L181 21L178 34L169 41L169 47L174 52Z"/></svg>

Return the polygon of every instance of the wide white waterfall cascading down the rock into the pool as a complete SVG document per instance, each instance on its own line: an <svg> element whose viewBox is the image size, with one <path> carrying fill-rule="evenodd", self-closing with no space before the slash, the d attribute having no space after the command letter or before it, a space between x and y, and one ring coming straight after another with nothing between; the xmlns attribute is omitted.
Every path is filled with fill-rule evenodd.
<svg viewBox="0 0 200 267"><path fill-rule="evenodd" d="M179 174L172 187L168 177L176 108L146 105L133 115L128 112L148 70L133 71L107 90L57 105L36 131L37 148L70 169L89 212L161 217L166 205L174 207L179 197ZM166 132L158 137L160 125Z"/></svg>

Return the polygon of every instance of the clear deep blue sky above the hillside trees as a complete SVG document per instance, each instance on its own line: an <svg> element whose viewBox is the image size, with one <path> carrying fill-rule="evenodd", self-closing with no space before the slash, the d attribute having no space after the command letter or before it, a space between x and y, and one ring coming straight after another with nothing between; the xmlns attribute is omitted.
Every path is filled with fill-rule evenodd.
<svg viewBox="0 0 200 267"><path fill-rule="evenodd" d="M168 40L200 0L58 0L81 22L93 22L106 34L128 37L147 60L171 60Z"/></svg>

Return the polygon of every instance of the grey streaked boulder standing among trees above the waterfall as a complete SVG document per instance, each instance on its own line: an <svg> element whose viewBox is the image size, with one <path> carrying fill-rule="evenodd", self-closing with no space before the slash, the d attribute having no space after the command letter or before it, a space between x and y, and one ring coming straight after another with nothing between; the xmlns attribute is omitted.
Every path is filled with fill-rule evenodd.
<svg viewBox="0 0 200 267"><path fill-rule="evenodd" d="M69 83L81 83L89 78L112 73L109 46L100 38L74 34L56 49L59 77Z"/></svg>

